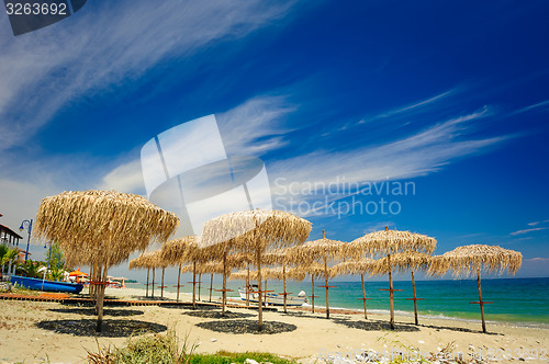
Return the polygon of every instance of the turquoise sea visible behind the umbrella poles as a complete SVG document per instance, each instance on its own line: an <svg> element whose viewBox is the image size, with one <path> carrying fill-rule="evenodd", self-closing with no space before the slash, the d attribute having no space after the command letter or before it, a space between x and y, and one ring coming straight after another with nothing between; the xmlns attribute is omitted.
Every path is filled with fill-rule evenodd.
<svg viewBox="0 0 549 364"><path fill-rule="evenodd" d="M202 276L201 298L208 299L210 287L210 275ZM166 284L168 285L168 284ZM170 286L166 289L175 292ZM214 280L214 288L220 288L221 283ZM229 281L227 286L236 289L243 286L242 282ZM315 282L315 306L325 306L325 289L317 287L323 282ZM362 288L360 282L330 282L337 286L329 289L329 306L347 309L362 310ZM144 288L144 284L130 284L131 287ZM311 281L288 282L288 292L296 295L300 291L311 295ZM366 282L368 310L372 312L389 311L389 292L379 291L388 288L388 282ZM267 288L276 293L282 292L282 283L268 281ZM410 281L395 281L395 289L404 289L394 293L395 310L404 315L413 315L414 304L412 300L412 283ZM186 285L182 292L191 292L192 285ZM446 317L455 319L480 319L479 305L469 304L479 300L477 280L437 280L416 281L418 312L422 316ZM155 296L159 295L155 289ZM215 295L215 293L214 293ZM237 294L229 294L237 296ZM482 297L493 304L484 306L488 321L503 321L512 323L524 323L549 327L549 277L544 278L494 278L482 280Z"/></svg>

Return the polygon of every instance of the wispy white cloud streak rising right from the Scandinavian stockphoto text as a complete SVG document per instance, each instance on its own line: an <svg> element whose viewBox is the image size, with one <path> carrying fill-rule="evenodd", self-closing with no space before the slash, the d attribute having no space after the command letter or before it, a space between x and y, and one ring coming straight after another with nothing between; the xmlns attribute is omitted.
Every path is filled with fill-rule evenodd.
<svg viewBox="0 0 549 364"><path fill-rule="evenodd" d="M350 150L316 149L271 163L270 174L291 183L347 183L411 179L437 171L451 160L496 145L506 137L468 139L467 127L490 113L488 107L416 132L407 137Z"/></svg>

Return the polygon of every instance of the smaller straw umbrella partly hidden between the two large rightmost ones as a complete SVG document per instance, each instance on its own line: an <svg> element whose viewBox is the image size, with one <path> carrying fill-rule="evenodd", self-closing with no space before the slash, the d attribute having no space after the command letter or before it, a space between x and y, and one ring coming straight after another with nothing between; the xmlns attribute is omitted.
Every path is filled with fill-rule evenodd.
<svg viewBox="0 0 549 364"><path fill-rule="evenodd" d="M417 298L415 292L415 276L414 273L418 270L427 270L430 260L433 257L421 253L417 251L408 250L403 251L391 257L392 266L395 268L400 272L410 271L412 274L412 292L414 294L414 298L406 298L414 302L414 319L415 325L419 325L417 319L417 302L423 298ZM389 274L389 258L382 258L377 261L376 274Z"/></svg>

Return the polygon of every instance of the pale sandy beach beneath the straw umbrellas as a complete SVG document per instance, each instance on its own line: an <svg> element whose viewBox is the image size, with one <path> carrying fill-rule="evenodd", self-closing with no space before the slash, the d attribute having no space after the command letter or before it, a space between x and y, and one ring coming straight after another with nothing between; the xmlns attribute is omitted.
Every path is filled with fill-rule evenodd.
<svg viewBox="0 0 549 364"><path fill-rule="evenodd" d="M109 297L137 298L144 292L135 288L108 288ZM175 298L173 293L165 297ZM181 296L189 300L189 295ZM257 311L229 308L231 320L257 319ZM175 328L180 339L188 335L189 343L197 343L197 352L265 351L298 360L302 363L324 362L338 357L351 357L365 351L378 355L390 355L395 351L410 355L418 353L458 353L464 359L482 356L484 362L516 362L519 356L530 363L547 363L549 330L545 328L489 323L489 334L479 332L479 322L426 319L412 325L411 317L396 317L397 330L388 330L388 317L363 316L351 311L330 311L330 319L323 314L292 309L288 314L265 311L267 322L283 322L291 331L274 334L225 333L198 327L197 325L221 321L215 318L219 309L193 310L158 306L108 306L105 325L114 328L111 337L96 338L89 331L78 330L93 325L96 316L90 307L76 307L59 303L0 300L0 362L1 363L82 363L87 351L101 346L122 346L127 340L127 330L148 327L157 332ZM210 317L208 317L210 316ZM63 322L59 326L59 322ZM213 323L219 327L219 323ZM292 329L292 326L294 328ZM74 329L71 329L74 328ZM119 330L119 331L116 331ZM126 330L126 331L125 331ZM119 337L116 337L119 335ZM511 360L504 357L507 351ZM414 354L415 351L415 354ZM537 353L537 359L536 359ZM489 355L495 357L489 360ZM530 359L528 359L530 357ZM358 357L360 359L360 357ZM382 357L380 357L382 359Z"/></svg>

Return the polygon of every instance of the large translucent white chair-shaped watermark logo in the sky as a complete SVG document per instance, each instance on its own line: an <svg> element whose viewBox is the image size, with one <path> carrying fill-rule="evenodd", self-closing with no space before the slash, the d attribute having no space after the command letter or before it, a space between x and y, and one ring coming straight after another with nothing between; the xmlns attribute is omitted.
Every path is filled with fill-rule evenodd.
<svg viewBox="0 0 549 364"><path fill-rule="evenodd" d="M205 221L223 214L272 209L265 163L227 156L214 115L148 140L141 163L148 200L180 217L178 236L200 235Z"/></svg>

